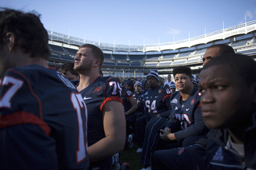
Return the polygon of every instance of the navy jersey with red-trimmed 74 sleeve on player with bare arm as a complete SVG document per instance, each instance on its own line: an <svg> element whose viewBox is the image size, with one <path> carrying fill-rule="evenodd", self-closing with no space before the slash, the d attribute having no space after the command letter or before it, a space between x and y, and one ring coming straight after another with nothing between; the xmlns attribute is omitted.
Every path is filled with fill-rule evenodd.
<svg viewBox="0 0 256 170"><path fill-rule="evenodd" d="M107 101L120 101L121 88L113 77L97 77L85 89L82 89L83 100L88 113L88 145L106 137L103 128L102 108Z"/></svg>

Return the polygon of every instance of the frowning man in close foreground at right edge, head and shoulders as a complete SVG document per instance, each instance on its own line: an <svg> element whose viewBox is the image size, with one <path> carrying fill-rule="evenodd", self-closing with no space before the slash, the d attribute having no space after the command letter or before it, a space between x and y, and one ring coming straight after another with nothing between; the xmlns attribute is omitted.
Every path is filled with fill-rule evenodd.
<svg viewBox="0 0 256 170"><path fill-rule="evenodd" d="M202 117L211 128L210 169L256 168L256 62L241 54L211 59L199 80Z"/></svg>

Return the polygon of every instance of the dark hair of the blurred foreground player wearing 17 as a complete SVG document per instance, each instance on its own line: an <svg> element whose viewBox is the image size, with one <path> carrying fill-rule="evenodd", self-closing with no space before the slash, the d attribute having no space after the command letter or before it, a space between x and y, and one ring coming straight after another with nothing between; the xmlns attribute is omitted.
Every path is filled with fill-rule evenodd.
<svg viewBox="0 0 256 170"><path fill-rule="evenodd" d="M14 34L15 45L30 57L50 57L48 34L35 11L24 13L19 10L0 8L0 45L8 42L7 33Z"/></svg>

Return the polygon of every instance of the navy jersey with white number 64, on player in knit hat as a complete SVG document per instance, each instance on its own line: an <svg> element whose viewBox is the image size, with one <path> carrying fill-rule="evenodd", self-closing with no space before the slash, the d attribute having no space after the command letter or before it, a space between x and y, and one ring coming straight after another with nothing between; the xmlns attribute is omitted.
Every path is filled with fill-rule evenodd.
<svg viewBox="0 0 256 170"><path fill-rule="evenodd" d="M169 116L170 112L167 112L170 110L171 91L169 88L158 85L156 89L147 89L143 96L147 121L158 114L162 117Z"/></svg>

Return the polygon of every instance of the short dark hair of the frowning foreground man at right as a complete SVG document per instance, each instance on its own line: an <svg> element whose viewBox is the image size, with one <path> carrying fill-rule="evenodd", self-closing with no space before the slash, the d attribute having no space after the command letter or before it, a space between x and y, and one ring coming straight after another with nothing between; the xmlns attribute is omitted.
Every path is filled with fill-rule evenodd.
<svg viewBox="0 0 256 170"><path fill-rule="evenodd" d="M227 69L241 76L248 86L256 82L256 61L254 61L252 57L238 53L220 55L207 62L202 70L208 69L214 65L227 66Z"/></svg>

